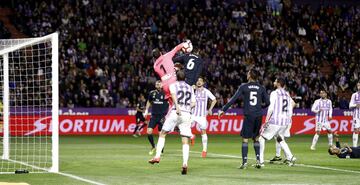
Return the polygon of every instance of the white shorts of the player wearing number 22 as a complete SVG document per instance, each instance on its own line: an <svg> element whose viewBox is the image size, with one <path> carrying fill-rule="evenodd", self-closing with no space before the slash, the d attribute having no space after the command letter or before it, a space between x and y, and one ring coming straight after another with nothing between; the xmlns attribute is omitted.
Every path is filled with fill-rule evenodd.
<svg viewBox="0 0 360 185"><path fill-rule="evenodd" d="M185 137L191 137L191 115L190 113L181 112L181 116L176 114L176 111L171 111L165 119L165 123L162 130L170 132L178 126L180 135Z"/></svg>

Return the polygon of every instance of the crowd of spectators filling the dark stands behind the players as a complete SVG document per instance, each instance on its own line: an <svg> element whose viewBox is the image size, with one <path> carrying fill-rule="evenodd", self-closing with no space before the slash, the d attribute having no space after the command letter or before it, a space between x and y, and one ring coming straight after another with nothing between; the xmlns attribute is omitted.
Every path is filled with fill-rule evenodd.
<svg viewBox="0 0 360 185"><path fill-rule="evenodd" d="M269 93L275 77L285 77L299 108L309 108L320 89L347 108L359 81L359 6L284 1L274 13L255 0L22 2L12 19L19 30L32 37L60 32L61 107L134 107L157 79L152 49L169 51L185 38L205 61L216 107L252 66Z"/></svg>

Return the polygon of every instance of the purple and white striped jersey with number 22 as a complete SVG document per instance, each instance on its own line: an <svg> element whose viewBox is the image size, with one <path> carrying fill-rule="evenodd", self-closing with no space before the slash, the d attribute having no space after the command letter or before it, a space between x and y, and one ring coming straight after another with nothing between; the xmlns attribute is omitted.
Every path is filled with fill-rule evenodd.
<svg viewBox="0 0 360 185"><path fill-rule="evenodd" d="M171 94L176 94L180 110L191 113L191 103L195 103L196 101L194 89L184 81L172 83L169 89ZM172 109L175 110L175 104Z"/></svg>

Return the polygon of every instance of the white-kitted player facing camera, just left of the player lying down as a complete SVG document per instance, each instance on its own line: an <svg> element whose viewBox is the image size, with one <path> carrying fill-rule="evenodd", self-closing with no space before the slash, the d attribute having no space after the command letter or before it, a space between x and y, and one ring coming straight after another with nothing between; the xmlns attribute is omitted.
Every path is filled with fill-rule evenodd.
<svg viewBox="0 0 360 185"><path fill-rule="evenodd" d="M333 144L333 135L329 122L332 119L332 102L327 99L327 93L325 90L320 91L320 97L320 99L315 100L313 106L311 107L311 111L316 113L316 133L310 147L311 150L316 149L316 143L322 129L326 130L328 133L329 146L332 146Z"/></svg>

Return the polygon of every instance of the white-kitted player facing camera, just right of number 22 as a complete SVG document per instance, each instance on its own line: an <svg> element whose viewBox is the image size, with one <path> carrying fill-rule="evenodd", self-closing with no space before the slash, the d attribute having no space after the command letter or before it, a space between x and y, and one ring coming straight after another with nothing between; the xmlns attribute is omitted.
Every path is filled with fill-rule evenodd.
<svg viewBox="0 0 360 185"><path fill-rule="evenodd" d="M193 110L192 120L194 123L197 123L200 130L201 130L201 140L203 145L203 150L201 156L203 158L206 157L207 153L207 143L208 137L206 134L206 128L208 126L208 122L206 120L206 115L212 115L212 109L216 104L215 96L204 87L204 79L200 77L196 82L196 90L195 90L195 99L196 105L195 109ZM210 107L208 107L208 99L211 100Z"/></svg>

